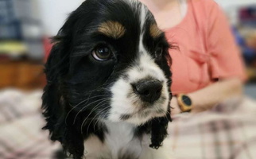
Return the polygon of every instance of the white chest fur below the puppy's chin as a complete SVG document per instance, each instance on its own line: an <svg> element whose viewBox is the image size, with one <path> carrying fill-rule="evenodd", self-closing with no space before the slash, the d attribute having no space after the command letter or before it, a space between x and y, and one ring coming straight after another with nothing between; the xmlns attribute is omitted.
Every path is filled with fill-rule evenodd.
<svg viewBox="0 0 256 159"><path fill-rule="evenodd" d="M108 134L105 142L91 136L84 142L84 157L86 159L119 159L122 155L132 154L138 159L173 159L171 142L165 139L159 149L149 147L150 136L144 135L142 141L134 138L134 126L124 122L106 122Z"/></svg>

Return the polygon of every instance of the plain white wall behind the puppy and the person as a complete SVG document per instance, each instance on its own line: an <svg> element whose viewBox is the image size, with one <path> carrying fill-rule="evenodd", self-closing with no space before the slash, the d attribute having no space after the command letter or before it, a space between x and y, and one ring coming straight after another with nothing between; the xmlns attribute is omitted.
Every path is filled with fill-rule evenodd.
<svg viewBox="0 0 256 159"><path fill-rule="evenodd" d="M64 24L68 14L80 6L84 0L35 0L39 10L39 16L43 23L43 32L48 35L56 35L61 25ZM206 1L206 0L205 0ZM238 6L250 4L256 5L256 0L215 0L230 14L231 21L236 22L235 9Z"/></svg>

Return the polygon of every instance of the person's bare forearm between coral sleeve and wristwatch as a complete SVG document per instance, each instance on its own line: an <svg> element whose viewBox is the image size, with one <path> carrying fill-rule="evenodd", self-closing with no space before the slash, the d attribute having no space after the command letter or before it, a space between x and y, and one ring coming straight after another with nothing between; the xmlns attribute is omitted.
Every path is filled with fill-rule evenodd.
<svg viewBox="0 0 256 159"><path fill-rule="evenodd" d="M189 93L188 96L194 106L192 112L205 111L225 99L242 96L242 81L237 78L222 80Z"/></svg>

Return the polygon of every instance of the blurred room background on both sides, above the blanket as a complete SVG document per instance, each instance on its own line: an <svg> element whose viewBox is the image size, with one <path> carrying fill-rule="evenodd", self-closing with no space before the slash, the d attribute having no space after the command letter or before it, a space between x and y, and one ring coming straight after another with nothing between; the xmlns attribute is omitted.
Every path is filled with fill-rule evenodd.
<svg viewBox="0 0 256 159"><path fill-rule="evenodd" d="M45 84L42 64L68 14L83 0L0 0L0 89ZM256 2L216 0L231 22L245 60L246 94L256 98Z"/></svg>

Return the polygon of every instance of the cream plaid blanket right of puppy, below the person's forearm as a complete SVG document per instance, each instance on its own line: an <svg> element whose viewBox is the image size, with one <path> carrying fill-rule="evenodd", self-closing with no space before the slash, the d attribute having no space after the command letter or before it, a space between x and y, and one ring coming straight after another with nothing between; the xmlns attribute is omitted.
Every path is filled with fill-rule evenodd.
<svg viewBox="0 0 256 159"><path fill-rule="evenodd" d="M256 103L232 99L201 114L180 114L169 134L177 159L255 159Z"/></svg>

